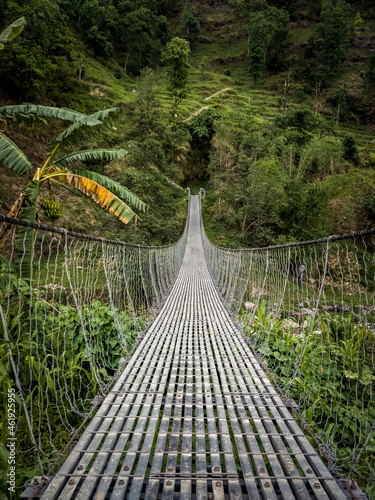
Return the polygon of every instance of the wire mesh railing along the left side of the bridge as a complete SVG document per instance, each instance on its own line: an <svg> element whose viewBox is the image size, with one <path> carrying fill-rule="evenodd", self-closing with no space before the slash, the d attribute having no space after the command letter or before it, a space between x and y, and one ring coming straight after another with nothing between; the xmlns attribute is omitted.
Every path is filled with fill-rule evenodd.
<svg viewBox="0 0 375 500"><path fill-rule="evenodd" d="M177 278L188 222L164 247L0 222L0 490L17 495L126 366ZM7 476L11 455L17 474Z"/></svg>

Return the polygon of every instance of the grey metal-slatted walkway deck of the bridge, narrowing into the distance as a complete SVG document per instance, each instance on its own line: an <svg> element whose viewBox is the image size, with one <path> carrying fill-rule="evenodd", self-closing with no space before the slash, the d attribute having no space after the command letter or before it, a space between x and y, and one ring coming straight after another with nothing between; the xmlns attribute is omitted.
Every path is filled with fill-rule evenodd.
<svg viewBox="0 0 375 500"><path fill-rule="evenodd" d="M43 500L346 498L236 329L191 199L172 292Z"/></svg>

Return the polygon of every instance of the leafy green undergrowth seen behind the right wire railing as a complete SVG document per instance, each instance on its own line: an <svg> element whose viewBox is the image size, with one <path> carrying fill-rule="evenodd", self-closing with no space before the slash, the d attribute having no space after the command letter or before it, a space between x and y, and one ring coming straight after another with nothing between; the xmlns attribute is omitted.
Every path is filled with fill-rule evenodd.
<svg viewBox="0 0 375 500"><path fill-rule="evenodd" d="M359 452L375 418L371 404L374 333L358 326L351 315L320 315L314 324L306 317L305 323L297 335L285 328L282 319L268 314L265 305L251 326L245 316L247 335L276 383L298 404L314 435L330 445L345 475L350 469L347 457L354 449ZM365 470L374 464L373 436L358 467ZM370 486L367 493L373 495L374 488Z"/></svg>

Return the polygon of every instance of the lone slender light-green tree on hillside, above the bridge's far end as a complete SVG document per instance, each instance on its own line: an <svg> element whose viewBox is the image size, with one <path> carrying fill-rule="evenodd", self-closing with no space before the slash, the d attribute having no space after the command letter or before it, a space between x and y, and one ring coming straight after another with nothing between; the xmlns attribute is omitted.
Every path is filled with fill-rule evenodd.
<svg viewBox="0 0 375 500"><path fill-rule="evenodd" d="M167 44L163 55L163 62L167 67L168 90L174 98L173 109L187 96L190 74L189 53L189 43L175 37Z"/></svg>

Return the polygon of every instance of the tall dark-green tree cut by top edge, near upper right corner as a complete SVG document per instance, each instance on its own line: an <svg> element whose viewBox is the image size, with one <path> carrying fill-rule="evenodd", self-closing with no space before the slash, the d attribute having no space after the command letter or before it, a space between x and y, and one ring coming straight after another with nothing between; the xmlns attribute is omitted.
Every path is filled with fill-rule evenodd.
<svg viewBox="0 0 375 500"><path fill-rule="evenodd" d="M337 70L349 39L349 5L345 0L324 0L318 35L323 39L323 56L331 71Z"/></svg>

